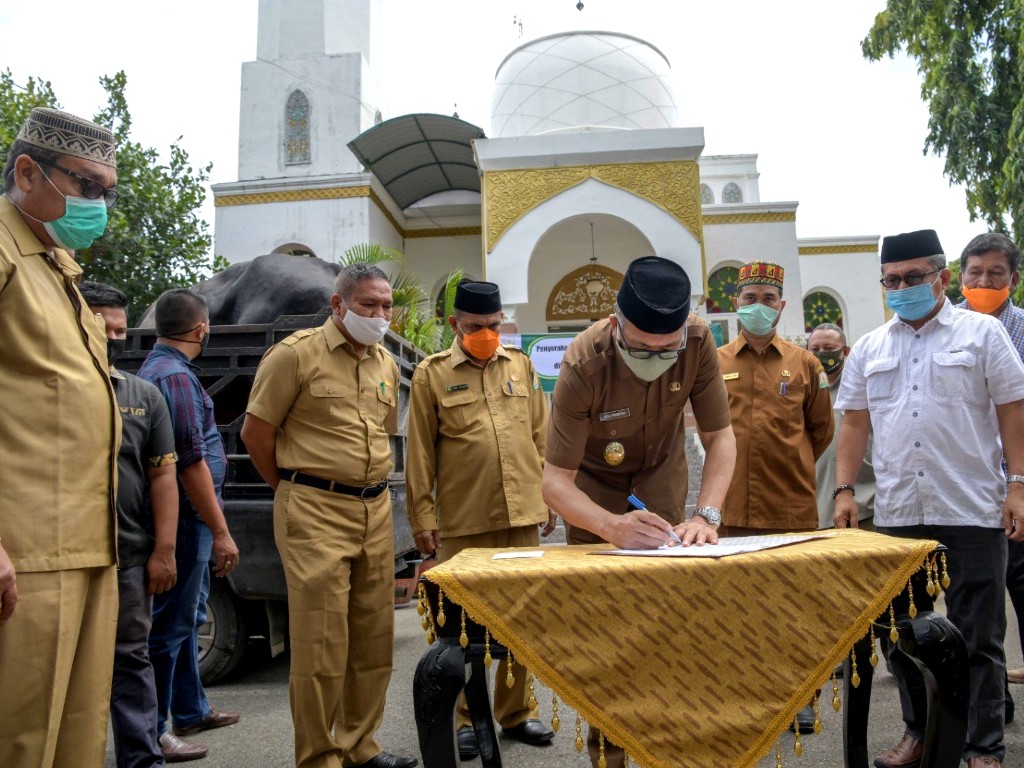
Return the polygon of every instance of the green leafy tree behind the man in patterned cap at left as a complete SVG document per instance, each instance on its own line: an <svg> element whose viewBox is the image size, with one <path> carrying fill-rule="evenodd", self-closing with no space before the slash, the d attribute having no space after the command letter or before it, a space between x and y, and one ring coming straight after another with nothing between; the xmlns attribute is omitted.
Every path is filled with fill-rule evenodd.
<svg viewBox="0 0 1024 768"><path fill-rule="evenodd" d="M110 127L117 141L119 198L109 212L106 232L77 256L87 279L128 294L129 318L134 319L167 289L193 286L226 263L211 257L209 227L199 216L211 165L193 168L180 136L166 163L157 150L133 141L124 72L99 82L108 102L94 120ZM0 74L2 157L36 106L59 109L48 82L30 78L19 88L9 70Z"/></svg>

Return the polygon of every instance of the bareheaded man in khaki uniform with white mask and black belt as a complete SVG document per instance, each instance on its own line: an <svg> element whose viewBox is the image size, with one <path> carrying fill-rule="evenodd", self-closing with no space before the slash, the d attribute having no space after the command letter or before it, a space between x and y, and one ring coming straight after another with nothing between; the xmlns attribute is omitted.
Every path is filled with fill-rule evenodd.
<svg viewBox="0 0 1024 768"><path fill-rule="evenodd" d="M378 342L391 318L379 268L338 275L331 317L260 362L242 439L275 489L288 583L289 691L299 768L412 768L381 751L394 640L388 434L398 367Z"/></svg>

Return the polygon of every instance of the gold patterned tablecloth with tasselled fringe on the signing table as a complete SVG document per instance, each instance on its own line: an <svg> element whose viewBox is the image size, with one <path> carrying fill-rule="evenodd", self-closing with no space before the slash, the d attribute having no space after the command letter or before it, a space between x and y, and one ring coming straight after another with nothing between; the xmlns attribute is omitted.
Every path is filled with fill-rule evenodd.
<svg viewBox="0 0 1024 768"><path fill-rule="evenodd" d="M643 768L754 766L936 546L843 530L721 559L473 549L426 578Z"/></svg>

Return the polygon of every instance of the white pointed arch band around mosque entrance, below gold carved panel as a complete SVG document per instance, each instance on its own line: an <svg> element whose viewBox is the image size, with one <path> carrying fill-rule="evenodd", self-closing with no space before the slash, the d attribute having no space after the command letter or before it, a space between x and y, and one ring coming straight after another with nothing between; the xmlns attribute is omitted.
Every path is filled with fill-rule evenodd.
<svg viewBox="0 0 1024 768"><path fill-rule="evenodd" d="M486 255L487 279L502 287L505 304L525 304L530 299L530 272L537 246L555 226L569 219L593 216L608 217L628 223L649 245L649 254L675 261L691 275L697 295L701 293L699 280L702 273L700 241L679 219L663 208L632 193L611 186L594 178L577 184L546 200L519 218L502 236L494 250ZM589 233L586 240L587 256L590 255ZM597 243L598 258L601 243ZM644 255L644 254L636 254ZM580 258L573 265L586 263ZM625 269L625 264L610 264ZM567 270L563 270L564 271ZM548 286L553 285L549 283ZM542 296L547 298L549 288ZM535 297L538 303L541 296Z"/></svg>

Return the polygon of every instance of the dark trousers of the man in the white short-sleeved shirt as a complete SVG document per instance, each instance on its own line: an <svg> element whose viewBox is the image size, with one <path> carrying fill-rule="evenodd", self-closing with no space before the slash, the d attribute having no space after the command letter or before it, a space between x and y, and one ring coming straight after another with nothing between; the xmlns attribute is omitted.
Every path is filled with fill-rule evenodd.
<svg viewBox="0 0 1024 768"><path fill-rule="evenodd" d="M1002 528L950 525L878 527L880 534L904 539L936 539L948 548L949 588L945 591L946 615L958 629L968 647L971 670L971 703L968 713L964 759L991 755L1002 761L1005 686L1007 674L1002 638L1007 632L1007 538ZM902 601L902 606L899 604ZM919 610L931 610L933 600L915 587ZM893 601L896 612L905 612L905 593ZM888 624L888 612L881 620ZM899 685L903 720L910 734L923 740L927 723L925 683L913 663L898 651L890 652L890 667Z"/></svg>

